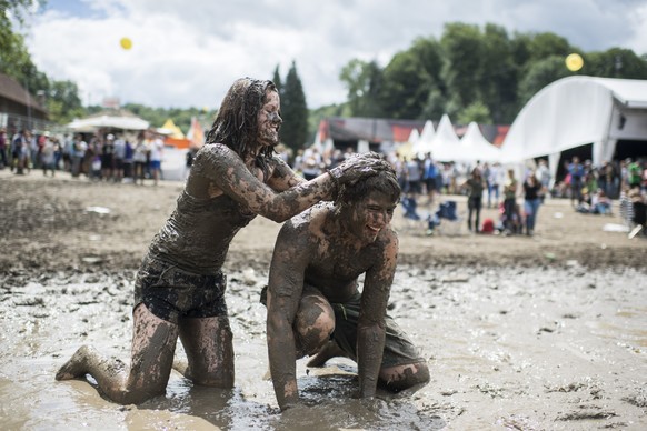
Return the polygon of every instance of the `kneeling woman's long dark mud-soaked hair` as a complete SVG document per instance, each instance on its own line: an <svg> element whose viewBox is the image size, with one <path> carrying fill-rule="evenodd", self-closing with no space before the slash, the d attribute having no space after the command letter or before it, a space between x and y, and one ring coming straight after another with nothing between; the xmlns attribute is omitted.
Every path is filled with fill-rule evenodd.
<svg viewBox="0 0 647 431"><path fill-rule="evenodd" d="M267 102L267 90L278 91L272 81L252 78L237 79L218 110L211 130L207 133L207 143L220 142L246 159L258 147L258 113ZM266 160L271 158L275 150L262 147L256 158L256 164L267 176Z"/></svg>

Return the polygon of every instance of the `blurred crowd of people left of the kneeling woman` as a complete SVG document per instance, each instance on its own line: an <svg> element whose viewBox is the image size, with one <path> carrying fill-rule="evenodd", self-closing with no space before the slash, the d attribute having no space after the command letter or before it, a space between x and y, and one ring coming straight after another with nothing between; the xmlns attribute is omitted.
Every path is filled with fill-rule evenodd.
<svg viewBox="0 0 647 431"><path fill-rule="evenodd" d="M161 179L163 140L153 131L135 136L113 133L63 134L32 133L22 129L9 137L0 129L0 169L16 174L42 170L54 177L67 172L92 181L143 184Z"/></svg>

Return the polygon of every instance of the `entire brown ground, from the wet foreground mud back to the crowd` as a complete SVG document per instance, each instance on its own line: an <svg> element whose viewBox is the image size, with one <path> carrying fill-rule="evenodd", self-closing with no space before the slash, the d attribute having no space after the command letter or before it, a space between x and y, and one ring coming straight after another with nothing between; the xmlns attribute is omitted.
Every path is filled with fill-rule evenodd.
<svg viewBox="0 0 647 431"><path fill-rule="evenodd" d="M258 292L280 225L261 218L226 263L235 390L193 388L173 373L166 397L123 408L84 381L56 382L82 343L128 360L133 274L181 187L0 171L1 429L647 427L647 240L613 231L623 224L617 207L613 217L587 216L566 200L540 208L532 238L472 235L462 221L427 235L398 209L389 313L432 373L415 394L355 400L352 362L308 370L300 361L310 408L279 414ZM465 217L465 198L441 199Z"/></svg>

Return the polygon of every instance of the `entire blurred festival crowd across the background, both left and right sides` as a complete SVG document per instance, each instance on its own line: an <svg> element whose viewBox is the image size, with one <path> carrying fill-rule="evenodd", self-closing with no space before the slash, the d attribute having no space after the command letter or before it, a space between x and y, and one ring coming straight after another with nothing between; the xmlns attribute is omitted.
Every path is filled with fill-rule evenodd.
<svg viewBox="0 0 647 431"><path fill-rule="evenodd" d="M320 151L312 146L296 154L278 147L280 157L306 180L317 178L352 156L354 150ZM187 153L190 169L197 149ZM162 178L163 140L153 131L142 131L133 137L99 133L93 136L66 134L62 137L31 133L21 130L8 137L0 129L0 169L9 167L17 174L42 170L44 176L68 172L73 178L86 176L93 181L132 182L143 184L150 179L157 184ZM564 162L559 179L554 179L545 159L532 168L519 172L501 163L477 162L476 166L438 162L424 157L401 157L394 151L385 158L397 172L402 190L405 217L420 220L417 209L439 206L439 196L467 196L467 228L470 232L500 232L506 235L532 235L539 208L546 197L569 199L576 211L590 214L614 213L614 200L630 200L640 206L646 199L647 163L643 159L605 161L596 167L579 157ZM629 198L629 196L631 198ZM518 199L522 199L519 204ZM484 207L499 210L492 227L481 224ZM619 204L618 204L619 208ZM439 208L439 211L441 209ZM624 217L640 214L623 211ZM430 220L428 220L430 221ZM436 221L437 223L438 221ZM488 223L491 220L487 220ZM430 221L428 233L432 231ZM628 224L636 224L627 220ZM639 223L638 223L639 224Z"/></svg>

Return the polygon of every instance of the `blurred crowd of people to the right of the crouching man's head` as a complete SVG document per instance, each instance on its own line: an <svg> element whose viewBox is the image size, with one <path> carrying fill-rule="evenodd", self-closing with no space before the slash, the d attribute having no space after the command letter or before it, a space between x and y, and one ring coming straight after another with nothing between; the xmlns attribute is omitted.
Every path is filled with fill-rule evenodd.
<svg viewBox="0 0 647 431"><path fill-rule="evenodd" d="M397 156L397 154L396 154ZM475 166L435 162L430 153L424 157L394 158L400 187L405 218L420 220L417 208L432 210L435 198L441 194L467 197L467 229L474 233L499 232L505 235L534 235L539 208L547 197L570 199L573 208L581 213L614 213L614 200L627 207L630 200L636 211L624 216L628 225L640 224L640 206L647 197L647 162L643 159L605 161L595 167L590 160L580 162L574 157L564 164L564 174L555 181L545 159L520 171L501 163L476 162ZM519 177L519 178L517 178ZM629 198L630 197L630 198ZM481 209L495 208L499 219L494 225L481 224ZM439 214L447 208L438 203L438 211L428 217L428 233L439 223ZM638 214L638 221L631 219ZM456 216L445 216L458 219ZM484 223L486 221L484 220ZM491 221L487 220L489 224Z"/></svg>

